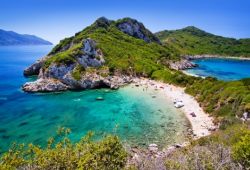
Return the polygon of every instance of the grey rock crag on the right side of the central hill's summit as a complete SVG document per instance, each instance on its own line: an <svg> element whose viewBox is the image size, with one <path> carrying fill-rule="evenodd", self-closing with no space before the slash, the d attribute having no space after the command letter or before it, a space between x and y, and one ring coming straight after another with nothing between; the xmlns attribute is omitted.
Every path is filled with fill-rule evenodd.
<svg viewBox="0 0 250 170"><path fill-rule="evenodd" d="M131 18L125 18L118 21L116 24L118 29L125 34L133 36L144 40L145 42L156 42L160 44L160 40L149 30L147 30L144 25L137 20Z"/></svg>

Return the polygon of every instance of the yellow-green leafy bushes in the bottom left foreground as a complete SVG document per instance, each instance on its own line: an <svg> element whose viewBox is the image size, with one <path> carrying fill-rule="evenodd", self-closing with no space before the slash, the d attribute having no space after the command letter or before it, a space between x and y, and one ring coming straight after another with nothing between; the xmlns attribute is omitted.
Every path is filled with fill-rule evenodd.
<svg viewBox="0 0 250 170"><path fill-rule="evenodd" d="M127 153L116 136L106 136L93 142L89 133L77 143L68 138L70 130L60 128L55 142L48 140L46 148L29 144L14 144L1 156L0 169L121 169Z"/></svg>

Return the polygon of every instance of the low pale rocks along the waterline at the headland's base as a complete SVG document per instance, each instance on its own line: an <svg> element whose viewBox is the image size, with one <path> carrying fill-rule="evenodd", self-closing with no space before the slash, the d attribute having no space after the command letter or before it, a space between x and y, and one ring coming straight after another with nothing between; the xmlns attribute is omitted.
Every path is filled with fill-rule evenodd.
<svg viewBox="0 0 250 170"><path fill-rule="evenodd" d="M22 88L26 92L53 92L95 89L101 87L117 89L130 82L132 82L132 78L127 76L102 77L98 74L86 74L82 76L81 80L75 80L70 74L66 74L60 80L53 78L39 78L37 81L25 83Z"/></svg>

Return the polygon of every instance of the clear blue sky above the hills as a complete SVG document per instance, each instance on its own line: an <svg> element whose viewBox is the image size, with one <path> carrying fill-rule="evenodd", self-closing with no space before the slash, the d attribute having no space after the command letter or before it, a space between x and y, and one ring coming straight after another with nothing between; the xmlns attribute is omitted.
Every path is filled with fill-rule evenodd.
<svg viewBox="0 0 250 170"><path fill-rule="evenodd" d="M102 16L135 18L152 32L196 26L250 38L250 0L0 0L0 29L55 44Z"/></svg>

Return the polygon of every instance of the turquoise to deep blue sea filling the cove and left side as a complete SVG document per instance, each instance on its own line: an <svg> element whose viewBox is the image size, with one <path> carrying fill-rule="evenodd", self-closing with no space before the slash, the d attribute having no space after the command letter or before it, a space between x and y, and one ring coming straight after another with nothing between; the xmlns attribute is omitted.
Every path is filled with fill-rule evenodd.
<svg viewBox="0 0 250 170"><path fill-rule="evenodd" d="M139 146L185 140L189 123L184 114L153 89L129 85L114 91L22 92L21 85L31 81L23 77L23 69L51 48L0 47L0 151L13 141L44 146L61 126L71 128L73 141L90 130L96 138L117 134L124 143ZM96 100L100 96L103 101Z"/></svg>

